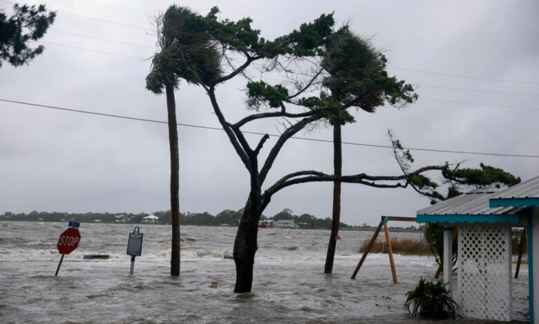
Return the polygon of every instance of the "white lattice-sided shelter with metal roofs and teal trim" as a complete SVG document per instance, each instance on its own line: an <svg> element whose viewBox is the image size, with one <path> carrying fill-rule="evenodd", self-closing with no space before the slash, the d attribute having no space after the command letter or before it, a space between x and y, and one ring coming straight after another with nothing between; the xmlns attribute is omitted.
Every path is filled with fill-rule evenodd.
<svg viewBox="0 0 539 324"><path fill-rule="evenodd" d="M444 283L453 287L453 228L457 227L458 282L453 298L465 317L511 321L511 228L527 227L529 248L529 310L533 322L533 234L539 240L539 176L502 191L473 190L417 212L417 223L444 228ZM539 274L536 274L539 278Z"/></svg>

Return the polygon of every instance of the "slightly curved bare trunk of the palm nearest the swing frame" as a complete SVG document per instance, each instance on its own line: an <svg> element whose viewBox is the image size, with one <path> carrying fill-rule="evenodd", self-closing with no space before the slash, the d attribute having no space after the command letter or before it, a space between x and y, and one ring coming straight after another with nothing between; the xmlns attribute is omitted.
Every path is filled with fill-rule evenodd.
<svg viewBox="0 0 539 324"><path fill-rule="evenodd" d="M333 126L333 168L335 176L341 176L343 172L341 144L341 125L336 124ZM339 221L341 221L341 182L335 181L333 183L333 215L330 244L328 245L328 254L325 256L324 272L326 274L330 274L333 271L333 259L337 245L337 235L339 234Z"/></svg>

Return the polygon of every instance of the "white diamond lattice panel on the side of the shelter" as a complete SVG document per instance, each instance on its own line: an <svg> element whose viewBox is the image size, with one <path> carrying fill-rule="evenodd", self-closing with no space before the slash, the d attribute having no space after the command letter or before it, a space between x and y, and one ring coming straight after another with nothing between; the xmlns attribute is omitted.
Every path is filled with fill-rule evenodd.
<svg viewBox="0 0 539 324"><path fill-rule="evenodd" d="M465 317L511 321L511 227L460 225L455 301Z"/></svg>

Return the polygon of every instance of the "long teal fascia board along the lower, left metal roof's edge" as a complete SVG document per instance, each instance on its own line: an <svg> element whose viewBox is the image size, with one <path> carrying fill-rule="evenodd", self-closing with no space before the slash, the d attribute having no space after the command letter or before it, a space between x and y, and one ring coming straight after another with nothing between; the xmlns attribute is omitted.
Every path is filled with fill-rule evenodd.
<svg viewBox="0 0 539 324"><path fill-rule="evenodd" d="M484 214L447 214L447 215L417 215L417 223L512 223L518 224L520 219L526 217L527 214L501 214L501 215L484 215Z"/></svg>

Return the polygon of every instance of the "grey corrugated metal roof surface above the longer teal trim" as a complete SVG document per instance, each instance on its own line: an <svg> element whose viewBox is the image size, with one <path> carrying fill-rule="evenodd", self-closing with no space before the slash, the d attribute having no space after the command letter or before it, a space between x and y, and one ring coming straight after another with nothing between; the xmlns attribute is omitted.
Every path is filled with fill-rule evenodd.
<svg viewBox="0 0 539 324"><path fill-rule="evenodd" d="M515 214L522 211L522 208L515 207L489 207L489 199L497 194L499 195L500 192L493 189L472 190L460 196L446 201L440 201L435 205L418 210L416 213L417 215L501 215Z"/></svg>

